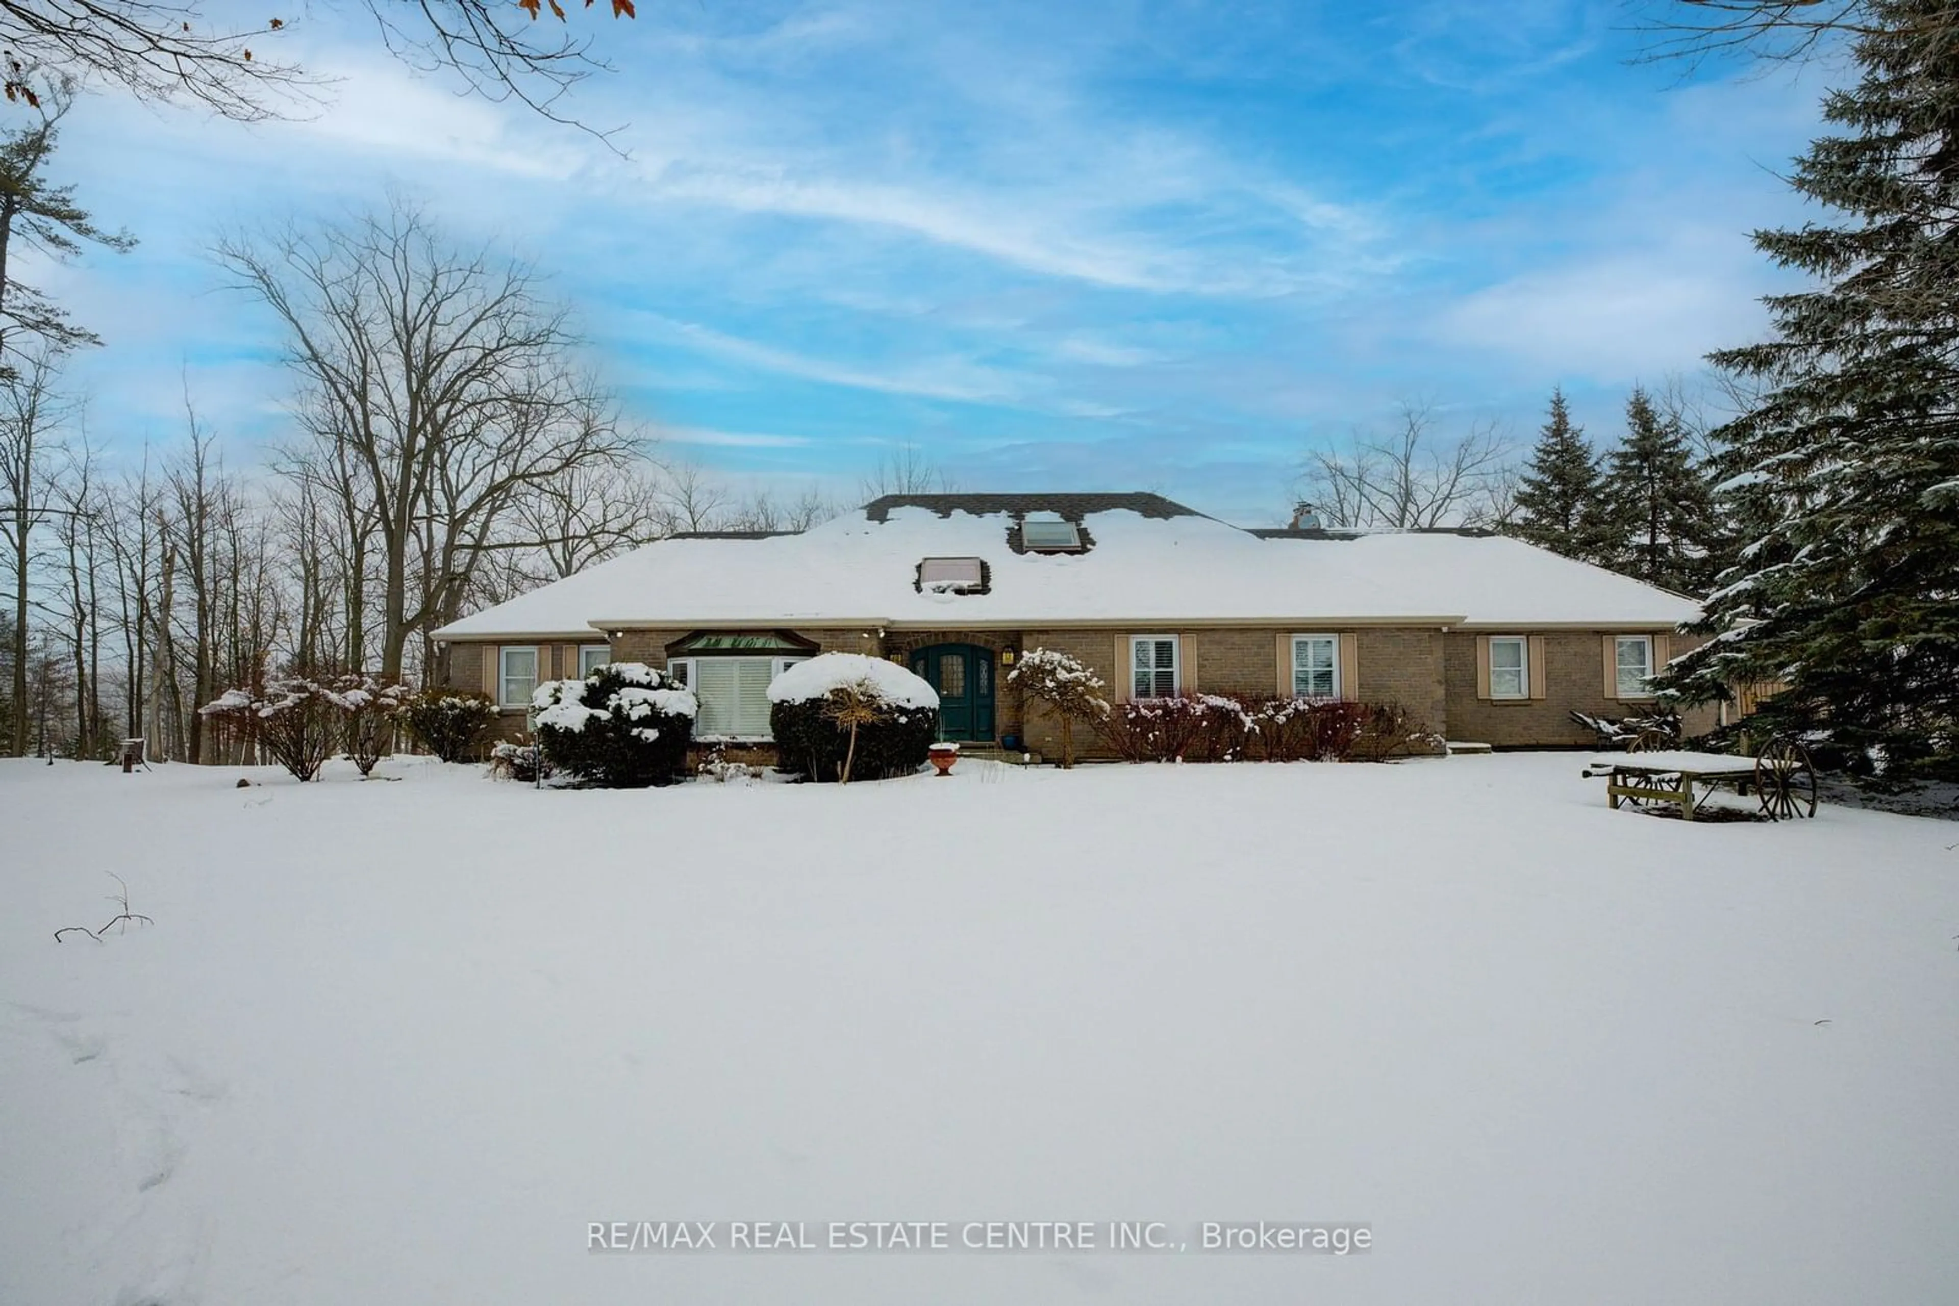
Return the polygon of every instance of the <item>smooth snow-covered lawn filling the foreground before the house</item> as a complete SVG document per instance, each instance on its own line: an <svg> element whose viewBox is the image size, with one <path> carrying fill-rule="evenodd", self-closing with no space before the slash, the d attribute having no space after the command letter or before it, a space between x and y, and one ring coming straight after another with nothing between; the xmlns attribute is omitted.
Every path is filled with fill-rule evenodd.
<svg viewBox="0 0 1959 1306"><path fill-rule="evenodd" d="M1959 826L1689 826L1581 764L0 764L0 1302L1959 1300ZM110 869L155 924L57 944Z"/></svg>

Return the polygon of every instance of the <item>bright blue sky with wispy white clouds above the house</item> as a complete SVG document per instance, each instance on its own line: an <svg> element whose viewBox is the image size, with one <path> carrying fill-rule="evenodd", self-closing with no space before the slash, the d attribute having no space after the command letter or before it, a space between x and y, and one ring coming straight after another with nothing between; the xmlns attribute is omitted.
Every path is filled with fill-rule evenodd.
<svg viewBox="0 0 1959 1306"><path fill-rule="evenodd" d="M1814 74L1632 65L1622 4L643 0L576 12L617 70L574 112L629 157L453 94L313 12L302 121L84 100L63 180L141 245L41 274L108 345L96 441L227 458L284 425L219 229L423 202L578 311L629 413L739 486L846 495L919 446L966 490L1158 490L1283 517L1309 444L1434 403L1595 439L1636 380L1753 339L1747 231Z"/></svg>

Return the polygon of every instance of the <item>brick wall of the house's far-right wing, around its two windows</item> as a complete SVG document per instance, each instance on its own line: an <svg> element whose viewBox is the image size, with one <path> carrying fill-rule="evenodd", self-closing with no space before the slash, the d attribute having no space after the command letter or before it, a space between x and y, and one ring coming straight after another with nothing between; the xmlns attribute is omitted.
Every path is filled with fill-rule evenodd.
<svg viewBox="0 0 1959 1306"><path fill-rule="evenodd" d="M1510 634L1532 634L1514 630ZM1667 634L1669 654L1679 656L1698 638ZM1452 630L1444 636L1448 683L1448 736L1501 748L1587 746L1597 736L1571 721L1573 711L1593 717L1634 717L1651 711L1651 701L1622 701L1604 693L1604 630L1552 630L1544 638L1544 697L1497 701L1477 697L1477 636ZM1693 709L1687 732L1714 724L1712 709Z"/></svg>

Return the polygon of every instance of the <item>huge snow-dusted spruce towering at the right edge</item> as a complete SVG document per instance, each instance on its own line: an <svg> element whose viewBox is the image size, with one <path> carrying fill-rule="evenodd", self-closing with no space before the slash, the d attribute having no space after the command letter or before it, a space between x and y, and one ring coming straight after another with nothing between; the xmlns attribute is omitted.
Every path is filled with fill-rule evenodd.
<svg viewBox="0 0 1959 1306"><path fill-rule="evenodd" d="M1869 0L1838 135L1791 184L1828 225L1755 245L1812 290L1771 296L1773 339L1712 354L1763 397L1718 435L1749 531L1714 638L1667 681L1691 699L1783 681L1773 717L1865 756L1959 756L1959 41L1951 0Z"/></svg>

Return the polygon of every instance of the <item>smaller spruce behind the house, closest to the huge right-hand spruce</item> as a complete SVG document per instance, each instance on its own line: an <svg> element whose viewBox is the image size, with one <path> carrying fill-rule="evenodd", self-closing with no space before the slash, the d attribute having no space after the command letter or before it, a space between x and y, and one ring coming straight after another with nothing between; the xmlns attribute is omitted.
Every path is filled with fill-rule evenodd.
<svg viewBox="0 0 1959 1306"><path fill-rule="evenodd" d="M1606 460L1597 533L1604 566L1679 593L1706 591L1712 495L1687 433L1640 386L1626 399L1626 439Z"/></svg>

